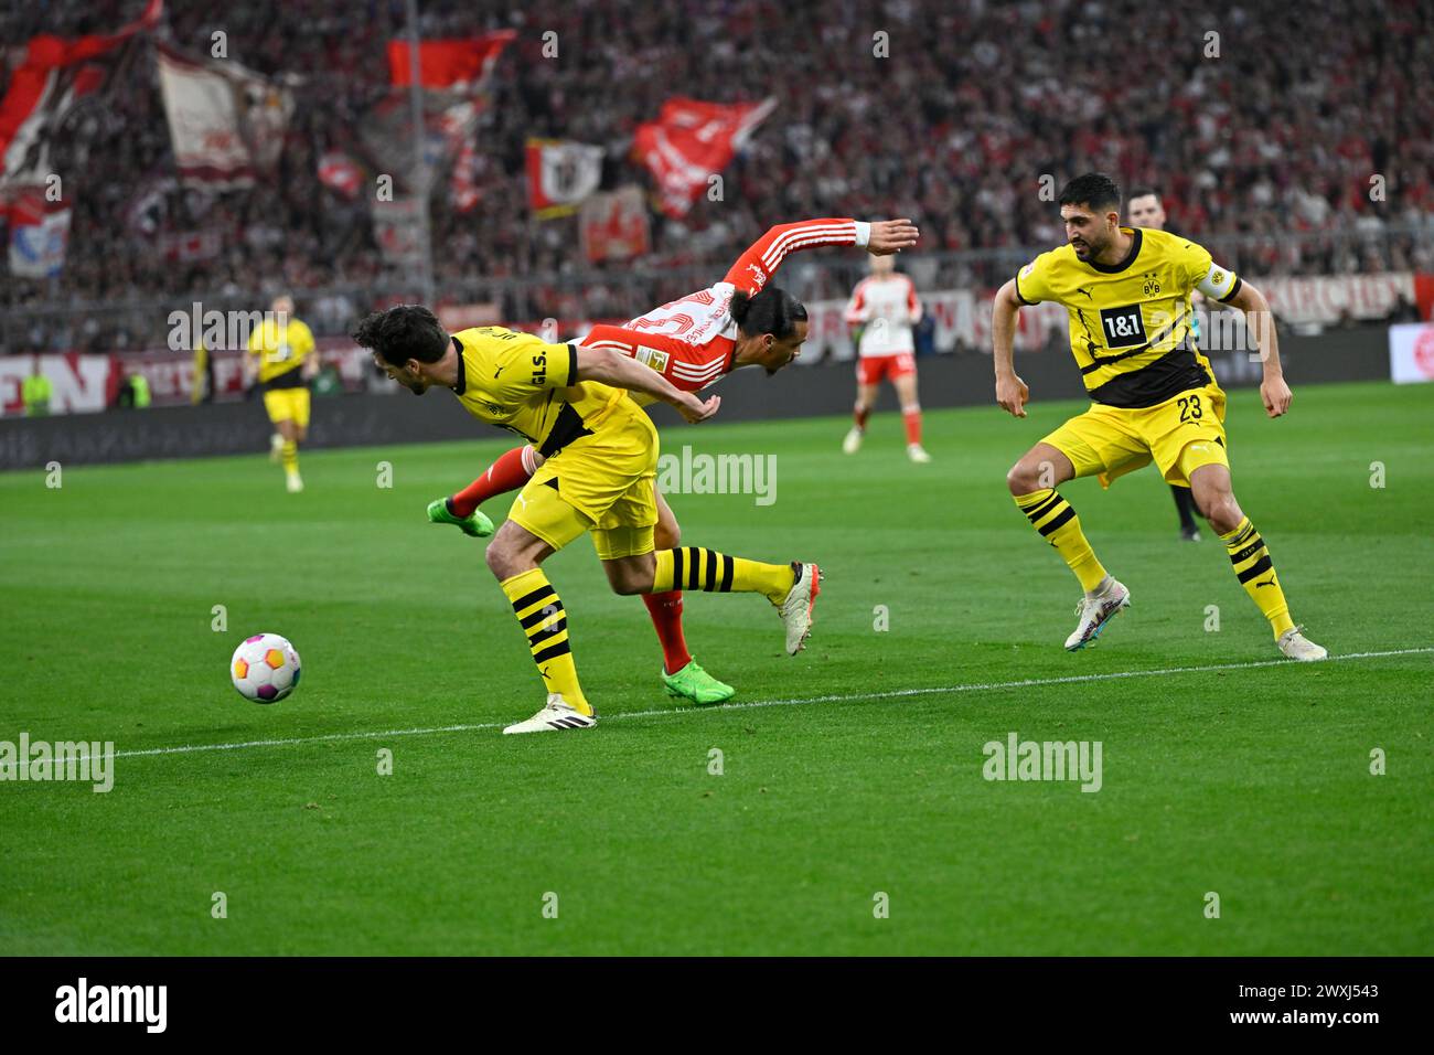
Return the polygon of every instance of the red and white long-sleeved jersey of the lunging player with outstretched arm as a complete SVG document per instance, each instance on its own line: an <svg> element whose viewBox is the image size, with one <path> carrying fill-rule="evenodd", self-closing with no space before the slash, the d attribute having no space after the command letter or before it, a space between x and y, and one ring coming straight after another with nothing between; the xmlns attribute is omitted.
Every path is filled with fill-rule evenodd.
<svg viewBox="0 0 1434 1055"><path fill-rule="evenodd" d="M733 293L760 293L790 253L856 244L855 220L779 224L743 253L720 283L652 309L627 326L594 326L582 344L630 355L663 373L674 386L698 392L731 370L737 343Z"/></svg>

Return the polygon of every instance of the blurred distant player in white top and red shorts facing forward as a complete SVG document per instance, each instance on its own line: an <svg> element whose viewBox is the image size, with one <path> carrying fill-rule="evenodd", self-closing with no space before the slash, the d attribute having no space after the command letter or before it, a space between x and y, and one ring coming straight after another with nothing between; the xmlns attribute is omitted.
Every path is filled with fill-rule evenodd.
<svg viewBox="0 0 1434 1055"><path fill-rule="evenodd" d="M895 258L872 255L872 273L856 283L846 307L846 322L856 339L856 412L852 431L842 441L846 454L862 449L866 419L876 406L883 378L891 378L906 422L906 456L931 461L921 445L921 403L916 402L916 346L912 327L921 322L921 301L911 278L896 270Z"/></svg>

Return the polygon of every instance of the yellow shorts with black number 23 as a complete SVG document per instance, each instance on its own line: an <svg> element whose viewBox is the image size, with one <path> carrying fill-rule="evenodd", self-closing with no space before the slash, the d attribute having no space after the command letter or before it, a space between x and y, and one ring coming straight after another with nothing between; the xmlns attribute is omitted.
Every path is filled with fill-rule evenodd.
<svg viewBox="0 0 1434 1055"><path fill-rule="evenodd" d="M1100 477L1101 487L1152 461L1167 484L1190 485L1202 465L1225 465L1225 392L1215 385L1182 392L1154 406L1093 405L1045 436L1071 459L1077 477Z"/></svg>

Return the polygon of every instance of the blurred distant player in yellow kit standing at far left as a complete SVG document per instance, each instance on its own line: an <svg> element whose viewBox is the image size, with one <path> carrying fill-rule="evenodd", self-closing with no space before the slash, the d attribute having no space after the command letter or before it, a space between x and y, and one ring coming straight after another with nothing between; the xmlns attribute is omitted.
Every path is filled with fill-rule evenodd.
<svg viewBox="0 0 1434 1055"><path fill-rule="evenodd" d="M258 357L255 370L254 357ZM255 373L264 389L264 409L274 422L270 456L284 464L284 482L290 494L304 489L298 475L298 445L308 435L308 380L318 370L314 334L294 317L294 299L274 299L264 322L250 334L250 355L244 357L245 388Z"/></svg>

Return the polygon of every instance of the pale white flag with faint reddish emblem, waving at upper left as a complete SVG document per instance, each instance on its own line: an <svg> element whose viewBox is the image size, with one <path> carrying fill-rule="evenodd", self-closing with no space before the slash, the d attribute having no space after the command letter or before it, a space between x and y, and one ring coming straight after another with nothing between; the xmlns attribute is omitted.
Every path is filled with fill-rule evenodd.
<svg viewBox="0 0 1434 1055"><path fill-rule="evenodd" d="M252 187L284 149L288 88L237 62L196 60L158 44L159 92L179 178L188 187Z"/></svg>

